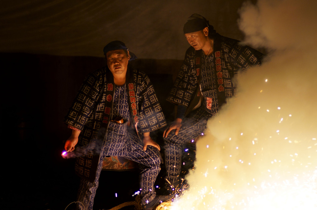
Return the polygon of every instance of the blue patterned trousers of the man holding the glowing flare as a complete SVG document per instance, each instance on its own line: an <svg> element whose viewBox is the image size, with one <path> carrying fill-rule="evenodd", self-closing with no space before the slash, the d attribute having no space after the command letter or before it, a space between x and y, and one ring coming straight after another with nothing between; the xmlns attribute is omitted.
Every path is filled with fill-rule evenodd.
<svg viewBox="0 0 317 210"><path fill-rule="evenodd" d="M126 129L126 123L110 122L108 125L107 140L101 149L99 164L94 182L81 179L77 194L77 209L92 210L94 197L99 184L102 161L105 156L121 156L139 163L141 203L146 204L154 199L156 192L154 182L161 170L162 157L158 149L147 146L143 151L143 144L132 129ZM124 128L125 127L125 128Z"/></svg>

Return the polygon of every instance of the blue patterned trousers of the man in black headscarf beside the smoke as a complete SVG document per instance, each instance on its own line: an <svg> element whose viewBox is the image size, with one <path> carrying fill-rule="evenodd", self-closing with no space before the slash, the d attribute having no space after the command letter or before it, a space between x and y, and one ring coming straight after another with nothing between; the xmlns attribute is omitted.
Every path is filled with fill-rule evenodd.
<svg viewBox="0 0 317 210"><path fill-rule="evenodd" d="M182 120L182 127L178 135L172 130L164 139L166 179L177 187L180 180L179 174L182 163L182 147L185 143L201 136L206 129L207 121L212 115L205 111L204 106L192 111ZM171 190L169 184L165 183L165 188Z"/></svg>

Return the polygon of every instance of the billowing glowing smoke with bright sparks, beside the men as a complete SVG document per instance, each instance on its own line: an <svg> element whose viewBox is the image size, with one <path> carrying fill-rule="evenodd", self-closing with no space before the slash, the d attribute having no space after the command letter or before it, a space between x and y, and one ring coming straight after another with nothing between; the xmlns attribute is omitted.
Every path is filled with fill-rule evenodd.
<svg viewBox="0 0 317 210"><path fill-rule="evenodd" d="M239 26L267 60L197 142L184 209L317 209L317 3L244 4Z"/></svg>

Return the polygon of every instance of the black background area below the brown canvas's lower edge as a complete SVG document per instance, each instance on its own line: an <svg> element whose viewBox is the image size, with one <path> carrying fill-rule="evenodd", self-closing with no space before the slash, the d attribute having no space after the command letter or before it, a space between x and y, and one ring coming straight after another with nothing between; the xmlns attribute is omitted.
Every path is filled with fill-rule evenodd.
<svg viewBox="0 0 317 210"><path fill-rule="evenodd" d="M74 174L74 159L61 157L71 133L62 120L84 77L104 66L105 59L26 53L0 53L0 58L5 67L1 209L65 209L76 201L79 178ZM174 106L165 98L181 64L182 60L154 59L139 59L133 64L149 75L167 121L174 118ZM159 143L164 157L163 130L151 136ZM192 155L186 153L184 157L191 157L185 171L192 164ZM159 187L163 186L165 175L164 164L161 167ZM138 190L138 169L102 171L94 209L110 209L134 201L132 195ZM67 209L73 207L71 204Z"/></svg>

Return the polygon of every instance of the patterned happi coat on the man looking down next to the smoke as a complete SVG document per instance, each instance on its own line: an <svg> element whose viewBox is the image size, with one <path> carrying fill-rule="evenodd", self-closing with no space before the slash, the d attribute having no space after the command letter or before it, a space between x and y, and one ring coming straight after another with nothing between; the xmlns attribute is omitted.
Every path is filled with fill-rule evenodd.
<svg viewBox="0 0 317 210"><path fill-rule="evenodd" d="M192 46L186 51L183 65L167 100L187 107L187 115L201 95L206 111L212 115L233 96L236 86L232 78L239 70L250 65L260 65L263 54L241 45L238 40L218 35L214 38L214 50L207 58L202 50Z"/></svg>

